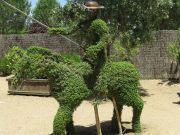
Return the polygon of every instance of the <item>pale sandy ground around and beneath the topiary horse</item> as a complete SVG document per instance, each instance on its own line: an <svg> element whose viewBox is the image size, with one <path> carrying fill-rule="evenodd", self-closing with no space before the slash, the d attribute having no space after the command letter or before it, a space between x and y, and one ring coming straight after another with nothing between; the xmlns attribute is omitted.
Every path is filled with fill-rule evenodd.
<svg viewBox="0 0 180 135"><path fill-rule="evenodd" d="M0 135L49 135L58 104L51 97L7 95L6 78L0 78ZM141 81L145 107L142 113L143 135L180 135L180 84L170 85L161 80ZM108 134L112 104L99 106L103 134ZM132 109L124 107L123 126L127 135L131 129ZM94 111L84 101L74 113L77 135L96 133Z"/></svg>

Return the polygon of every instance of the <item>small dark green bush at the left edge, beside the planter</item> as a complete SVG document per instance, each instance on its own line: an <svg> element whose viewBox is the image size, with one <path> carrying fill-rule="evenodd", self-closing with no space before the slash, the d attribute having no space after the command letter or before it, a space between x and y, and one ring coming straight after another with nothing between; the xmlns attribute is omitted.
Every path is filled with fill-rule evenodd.
<svg viewBox="0 0 180 135"><path fill-rule="evenodd" d="M8 68L9 61L6 57L0 58L0 75L6 76L10 74L9 68Z"/></svg>

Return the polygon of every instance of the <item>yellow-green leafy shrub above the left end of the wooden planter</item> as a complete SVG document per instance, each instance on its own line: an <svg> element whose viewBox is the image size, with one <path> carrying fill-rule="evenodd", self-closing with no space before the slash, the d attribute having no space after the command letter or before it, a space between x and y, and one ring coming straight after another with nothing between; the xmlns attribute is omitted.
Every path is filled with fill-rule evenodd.
<svg viewBox="0 0 180 135"><path fill-rule="evenodd" d="M7 66L10 72L15 68L15 64L23 57L24 50L18 46L12 47L6 54L6 59L8 60Z"/></svg>

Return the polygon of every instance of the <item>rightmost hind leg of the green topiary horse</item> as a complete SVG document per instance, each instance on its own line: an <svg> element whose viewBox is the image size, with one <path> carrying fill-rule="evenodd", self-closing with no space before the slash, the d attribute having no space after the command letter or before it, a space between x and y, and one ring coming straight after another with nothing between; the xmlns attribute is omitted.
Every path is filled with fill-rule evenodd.
<svg viewBox="0 0 180 135"><path fill-rule="evenodd" d="M136 133L141 132L140 116L141 116L143 106L144 106L143 100L140 97L138 97L138 99L134 101L133 119L132 119L132 124L133 124L132 127L133 127L134 132Z"/></svg>

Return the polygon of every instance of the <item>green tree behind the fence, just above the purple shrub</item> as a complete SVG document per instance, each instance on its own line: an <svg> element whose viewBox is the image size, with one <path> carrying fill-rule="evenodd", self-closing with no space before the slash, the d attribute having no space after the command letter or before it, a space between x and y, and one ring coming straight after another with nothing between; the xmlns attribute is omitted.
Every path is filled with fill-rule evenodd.
<svg viewBox="0 0 180 135"><path fill-rule="evenodd" d="M34 11L33 17L45 25L55 26L57 24L57 12L60 9L57 0L39 0Z"/></svg>

